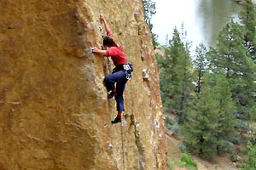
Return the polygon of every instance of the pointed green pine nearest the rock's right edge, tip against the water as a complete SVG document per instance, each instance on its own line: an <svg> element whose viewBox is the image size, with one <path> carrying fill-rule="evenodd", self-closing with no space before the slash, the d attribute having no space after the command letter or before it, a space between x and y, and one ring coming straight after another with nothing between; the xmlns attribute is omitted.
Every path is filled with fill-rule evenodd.
<svg viewBox="0 0 256 170"><path fill-rule="evenodd" d="M160 89L168 111L175 113L183 122L193 89L192 62L189 45L183 42L177 29L166 45L165 56L158 58L160 67Z"/></svg>

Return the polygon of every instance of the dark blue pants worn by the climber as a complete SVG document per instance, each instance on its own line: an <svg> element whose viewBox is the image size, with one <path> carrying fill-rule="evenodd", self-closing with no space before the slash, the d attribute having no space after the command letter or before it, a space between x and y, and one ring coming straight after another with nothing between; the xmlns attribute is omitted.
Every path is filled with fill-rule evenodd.
<svg viewBox="0 0 256 170"><path fill-rule="evenodd" d="M116 71L112 74L108 75L108 77L104 78L105 86L107 88L107 91L111 91L114 88L116 88L116 95L114 96L114 99L116 100L116 107L117 111L125 111L124 106L124 98L123 93L125 91L125 84L127 82L127 79L125 78L125 71ZM116 87L115 87L116 83Z"/></svg>

